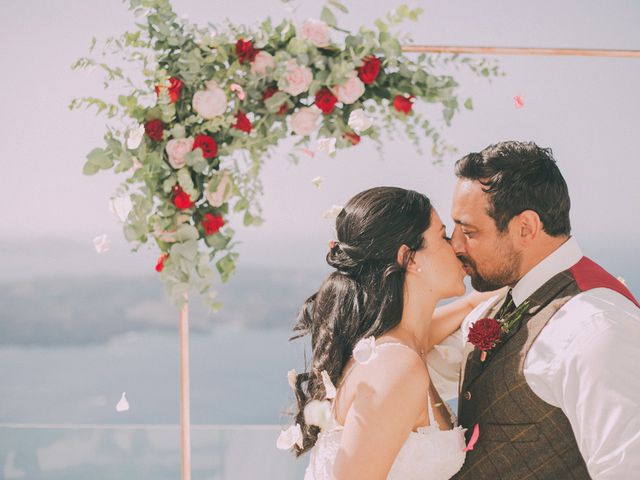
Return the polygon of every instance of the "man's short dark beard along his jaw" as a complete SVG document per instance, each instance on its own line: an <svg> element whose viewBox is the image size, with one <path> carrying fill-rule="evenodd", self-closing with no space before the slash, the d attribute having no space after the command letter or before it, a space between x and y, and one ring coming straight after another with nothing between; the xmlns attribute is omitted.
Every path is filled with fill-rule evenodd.
<svg viewBox="0 0 640 480"><path fill-rule="evenodd" d="M483 271L478 270L476 262L466 255L459 254L458 259L466 267L466 271L471 277L471 286L478 292L490 292L506 285L513 286L518 280L522 254L513 249L501 252L499 256L501 262L498 265L483 267Z"/></svg>

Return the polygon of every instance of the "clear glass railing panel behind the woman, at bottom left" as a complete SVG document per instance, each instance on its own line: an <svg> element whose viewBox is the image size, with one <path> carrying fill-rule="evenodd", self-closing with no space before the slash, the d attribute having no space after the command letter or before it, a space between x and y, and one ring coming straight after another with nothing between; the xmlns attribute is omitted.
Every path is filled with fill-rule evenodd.
<svg viewBox="0 0 640 480"><path fill-rule="evenodd" d="M307 457L276 449L279 425L193 425L194 480L301 479ZM176 480L178 425L0 425L0 478Z"/></svg>

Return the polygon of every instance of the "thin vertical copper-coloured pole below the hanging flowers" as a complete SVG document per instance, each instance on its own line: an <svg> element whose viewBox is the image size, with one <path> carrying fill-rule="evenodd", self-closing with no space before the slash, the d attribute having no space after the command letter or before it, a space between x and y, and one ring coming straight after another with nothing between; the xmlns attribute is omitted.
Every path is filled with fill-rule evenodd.
<svg viewBox="0 0 640 480"><path fill-rule="evenodd" d="M189 299L180 311L180 471L191 480L191 411L189 399Z"/></svg>

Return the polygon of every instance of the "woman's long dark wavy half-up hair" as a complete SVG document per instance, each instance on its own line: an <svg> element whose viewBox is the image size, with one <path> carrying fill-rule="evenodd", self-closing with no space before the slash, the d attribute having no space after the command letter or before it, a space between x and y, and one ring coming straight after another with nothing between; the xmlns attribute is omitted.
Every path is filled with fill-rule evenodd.
<svg viewBox="0 0 640 480"><path fill-rule="evenodd" d="M305 422L304 407L325 398L322 371L337 384L360 339L378 337L400 323L406 266L424 246L431 209L418 192L376 187L357 194L338 214L338 241L327 254L336 271L304 303L292 337L311 334L312 348L311 365L295 383L294 415L304 439L302 448L295 446L297 456L318 438L319 428ZM398 264L402 245L409 251Z"/></svg>

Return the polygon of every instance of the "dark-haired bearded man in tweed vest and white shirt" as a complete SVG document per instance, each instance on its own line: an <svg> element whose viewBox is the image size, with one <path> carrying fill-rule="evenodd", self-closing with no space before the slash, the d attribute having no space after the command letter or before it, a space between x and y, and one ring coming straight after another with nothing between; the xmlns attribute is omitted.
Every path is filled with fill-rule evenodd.
<svg viewBox="0 0 640 480"><path fill-rule="evenodd" d="M459 421L479 437L454 478L640 478L640 307L571 236L551 150L502 142L456 175L453 248L475 289L510 287L463 339L478 319L512 326L493 348L466 344Z"/></svg>

